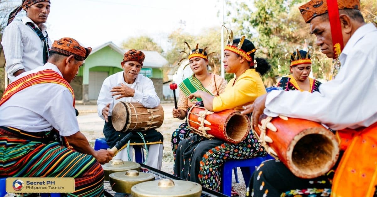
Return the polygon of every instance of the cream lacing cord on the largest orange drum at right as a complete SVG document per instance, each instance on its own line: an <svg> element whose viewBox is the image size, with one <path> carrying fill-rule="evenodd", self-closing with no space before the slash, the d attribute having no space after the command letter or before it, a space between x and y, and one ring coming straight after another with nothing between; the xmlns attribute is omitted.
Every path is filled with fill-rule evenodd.
<svg viewBox="0 0 377 197"><path fill-rule="evenodd" d="M264 147L264 149L266 150L266 152L268 154L270 154L272 157L274 157L275 159L279 159L277 157L276 152L271 147L269 147L268 144L267 144L267 142L270 142L270 143L273 142L272 139L266 135L267 128L269 128L270 130L276 132L276 127L270 122L271 120L272 120L272 117L271 116L267 116L267 118L265 118L265 119L263 119L261 121L262 125L258 124L259 130L261 130L261 135L260 136L258 136L258 134L254 131L254 129L253 129L253 133L258 138L258 142L261 142L261 145L262 145L262 147Z"/></svg>

